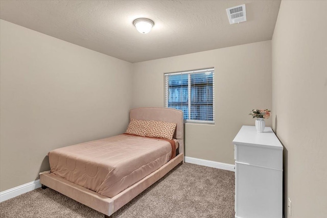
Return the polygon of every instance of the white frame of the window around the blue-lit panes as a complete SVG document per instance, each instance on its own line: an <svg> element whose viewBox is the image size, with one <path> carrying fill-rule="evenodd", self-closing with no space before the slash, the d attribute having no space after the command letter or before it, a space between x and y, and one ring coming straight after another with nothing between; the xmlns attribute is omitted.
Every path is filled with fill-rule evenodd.
<svg viewBox="0 0 327 218"><path fill-rule="evenodd" d="M200 73L205 73L205 72L212 72L212 119L213 120L199 120L199 119L191 119L191 74L200 74ZM180 71L180 72L170 72L170 73L165 73L164 74L164 86L165 86L165 107L168 108L168 103L169 103L169 76L173 75L188 75L188 119L184 119L184 123L196 123L196 124L215 124L215 68L205 68L205 69L199 69L199 70L189 70L189 71ZM182 85L181 85L182 86ZM180 104L182 105L182 104ZM211 114L211 113L210 113Z"/></svg>

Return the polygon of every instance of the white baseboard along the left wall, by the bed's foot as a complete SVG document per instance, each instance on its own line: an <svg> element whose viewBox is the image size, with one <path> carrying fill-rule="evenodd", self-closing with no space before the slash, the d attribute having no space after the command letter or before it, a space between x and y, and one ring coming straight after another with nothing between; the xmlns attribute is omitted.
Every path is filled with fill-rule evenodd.
<svg viewBox="0 0 327 218"><path fill-rule="evenodd" d="M0 192L0 202L6 201L8 199L14 198L26 192L32 191L36 188L41 187L40 180L35 180L33 182L26 183L24 185L19 185L14 188Z"/></svg>

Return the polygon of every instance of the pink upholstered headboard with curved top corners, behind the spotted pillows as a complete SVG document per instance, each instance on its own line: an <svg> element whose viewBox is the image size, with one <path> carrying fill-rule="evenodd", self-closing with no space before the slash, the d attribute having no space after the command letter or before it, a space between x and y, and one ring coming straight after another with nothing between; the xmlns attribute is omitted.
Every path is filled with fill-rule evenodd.
<svg viewBox="0 0 327 218"><path fill-rule="evenodd" d="M169 123L176 123L176 130L174 138L179 142L179 153L184 153L184 140L183 140L183 112L181 110L173 108L159 108L159 107L146 107L146 108L134 108L129 111L129 120L158 120Z"/></svg>

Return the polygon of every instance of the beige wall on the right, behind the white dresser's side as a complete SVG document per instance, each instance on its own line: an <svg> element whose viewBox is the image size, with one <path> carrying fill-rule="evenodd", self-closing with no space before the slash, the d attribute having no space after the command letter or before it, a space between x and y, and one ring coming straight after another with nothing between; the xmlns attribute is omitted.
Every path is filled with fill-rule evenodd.
<svg viewBox="0 0 327 218"><path fill-rule="evenodd" d="M327 1L282 1L272 38L273 128L285 146L285 206L327 214Z"/></svg>

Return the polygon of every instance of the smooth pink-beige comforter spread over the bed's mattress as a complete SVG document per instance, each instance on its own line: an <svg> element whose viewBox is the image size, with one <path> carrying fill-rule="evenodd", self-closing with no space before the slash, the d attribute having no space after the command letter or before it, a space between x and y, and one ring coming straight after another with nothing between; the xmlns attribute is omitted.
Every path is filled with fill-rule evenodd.
<svg viewBox="0 0 327 218"><path fill-rule="evenodd" d="M167 163L168 141L117 135L49 152L51 173L112 198Z"/></svg>

